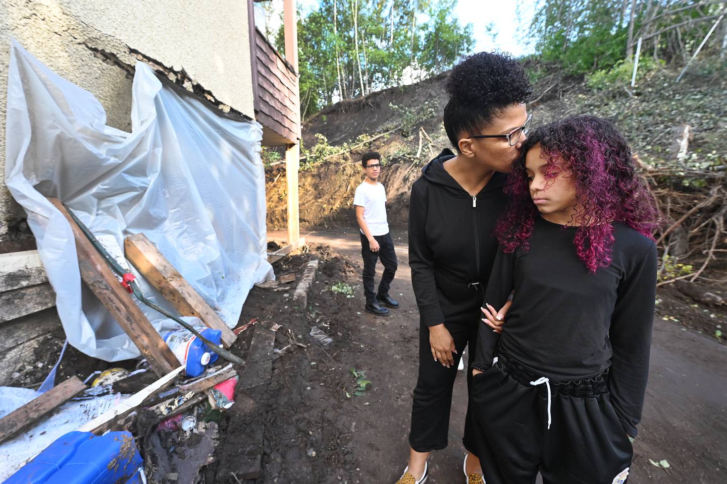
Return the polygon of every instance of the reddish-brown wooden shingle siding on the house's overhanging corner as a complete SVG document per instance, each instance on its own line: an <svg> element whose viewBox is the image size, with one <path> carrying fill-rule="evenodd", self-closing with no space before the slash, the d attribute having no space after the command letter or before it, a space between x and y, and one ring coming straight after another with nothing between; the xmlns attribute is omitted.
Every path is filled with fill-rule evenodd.
<svg viewBox="0 0 727 484"><path fill-rule="evenodd" d="M255 29L254 57L257 71L255 112L262 125L291 143L300 138L298 76Z"/></svg>

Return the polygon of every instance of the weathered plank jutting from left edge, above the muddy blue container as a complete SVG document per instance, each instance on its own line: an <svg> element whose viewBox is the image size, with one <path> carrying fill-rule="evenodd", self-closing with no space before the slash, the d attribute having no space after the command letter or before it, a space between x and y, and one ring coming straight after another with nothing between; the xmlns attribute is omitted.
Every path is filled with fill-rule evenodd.
<svg viewBox="0 0 727 484"><path fill-rule="evenodd" d="M79 377L71 377L61 382L46 393L25 403L0 419L0 443L15 435L20 430L30 427L41 417L57 409L63 403L86 389Z"/></svg>

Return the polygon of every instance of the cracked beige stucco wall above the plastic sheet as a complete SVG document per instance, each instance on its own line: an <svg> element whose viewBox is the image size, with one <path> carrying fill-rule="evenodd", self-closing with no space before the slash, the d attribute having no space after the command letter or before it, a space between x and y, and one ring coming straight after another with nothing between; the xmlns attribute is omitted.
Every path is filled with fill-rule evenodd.
<svg viewBox="0 0 727 484"><path fill-rule="evenodd" d="M5 172L9 39L90 91L110 126L131 128L128 49L184 69L220 102L254 118L247 2L241 0L0 0L0 173ZM116 57L116 59L114 59ZM0 186L0 242L27 235L23 210Z"/></svg>

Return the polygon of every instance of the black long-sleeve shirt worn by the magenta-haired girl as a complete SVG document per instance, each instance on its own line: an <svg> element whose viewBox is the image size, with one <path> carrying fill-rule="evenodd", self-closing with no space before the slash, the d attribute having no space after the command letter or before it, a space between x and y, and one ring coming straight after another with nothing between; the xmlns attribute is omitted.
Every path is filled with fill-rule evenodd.
<svg viewBox="0 0 727 484"><path fill-rule="evenodd" d="M498 251L485 302L513 305L502 335L481 323L473 366L489 368L499 350L553 381L608 369L608 390L624 430L635 437L648 378L656 297L656 245L614 223L611 264L587 271L573 243L576 227L537 217L529 250Z"/></svg>

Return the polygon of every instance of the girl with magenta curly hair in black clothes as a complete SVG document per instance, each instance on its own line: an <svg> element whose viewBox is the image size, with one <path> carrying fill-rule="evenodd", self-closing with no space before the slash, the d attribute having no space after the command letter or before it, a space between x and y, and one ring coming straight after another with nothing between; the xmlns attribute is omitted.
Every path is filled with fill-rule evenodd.
<svg viewBox="0 0 727 484"><path fill-rule="evenodd" d="M484 480L624 483L648 377L654 200L627 141L593 116L529 134L505 193L472 364Z"/></svg>

